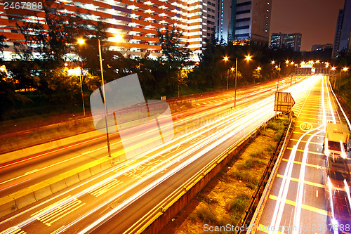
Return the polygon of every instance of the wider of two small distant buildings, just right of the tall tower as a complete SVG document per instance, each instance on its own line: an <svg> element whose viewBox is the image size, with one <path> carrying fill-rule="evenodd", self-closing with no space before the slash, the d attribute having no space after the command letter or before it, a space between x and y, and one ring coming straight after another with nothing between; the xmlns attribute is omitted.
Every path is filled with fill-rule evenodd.
<svg viewBox="0 0 351 234"><path fill-rule="evenodd" d="M272 33L270 37L271 48L292 48L293 51L299 52L301 48L302 34L292 33L285 34L282 32Z"/></svg>

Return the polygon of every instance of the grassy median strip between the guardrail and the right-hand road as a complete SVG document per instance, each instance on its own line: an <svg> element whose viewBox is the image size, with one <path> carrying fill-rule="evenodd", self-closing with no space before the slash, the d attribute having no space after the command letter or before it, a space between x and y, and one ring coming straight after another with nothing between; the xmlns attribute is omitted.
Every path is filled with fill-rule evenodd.
<svg viewBox="0 0 351 234"><path fill-rule="evenodd" d="M239 225L287 123L288 119L282 117L268 122L267 127L246 148L234 155L161 234L204 233L205 224Z"/></svg>

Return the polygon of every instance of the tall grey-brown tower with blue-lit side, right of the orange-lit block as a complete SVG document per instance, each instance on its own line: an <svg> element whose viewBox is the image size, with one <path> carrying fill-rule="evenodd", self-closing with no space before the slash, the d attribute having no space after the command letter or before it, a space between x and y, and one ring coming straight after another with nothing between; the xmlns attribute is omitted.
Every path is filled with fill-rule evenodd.
<svg viewBox="0 0 351 234"><path fill-rule="evenodd" d="M216 37L268 44L272 0L217 0Z"/></svg>

